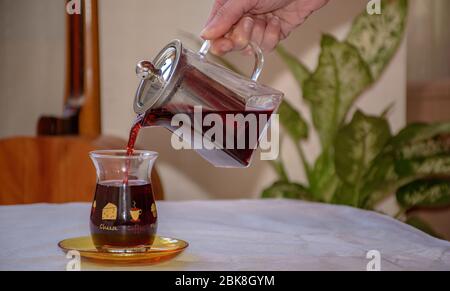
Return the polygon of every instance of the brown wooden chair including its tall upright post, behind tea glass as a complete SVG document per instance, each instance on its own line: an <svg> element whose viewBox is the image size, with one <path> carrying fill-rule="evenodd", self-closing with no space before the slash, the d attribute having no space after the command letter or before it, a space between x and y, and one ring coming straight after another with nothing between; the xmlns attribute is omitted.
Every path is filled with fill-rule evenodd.
<svg viewBox="0 0 450 291"><path fill-rule="evenodd" d="M126 147L123 139L101 136L97 0L82 3L81 15L67 14L63 116L42 117L38 137L0 140L0 205L92 201L96 174L89 152ZM162 200L156 171L151 180Z"/></svg>

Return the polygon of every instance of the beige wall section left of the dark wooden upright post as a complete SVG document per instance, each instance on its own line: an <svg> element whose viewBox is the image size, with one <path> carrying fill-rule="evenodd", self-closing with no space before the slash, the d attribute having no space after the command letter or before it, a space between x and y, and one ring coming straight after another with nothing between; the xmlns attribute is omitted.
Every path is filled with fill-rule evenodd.
<svg viewBox="0 0 450 291"><path fill-rule="evenodd" d="M64 3L0 0L0 138L32 135L42 114L60 114Z"/></svg>

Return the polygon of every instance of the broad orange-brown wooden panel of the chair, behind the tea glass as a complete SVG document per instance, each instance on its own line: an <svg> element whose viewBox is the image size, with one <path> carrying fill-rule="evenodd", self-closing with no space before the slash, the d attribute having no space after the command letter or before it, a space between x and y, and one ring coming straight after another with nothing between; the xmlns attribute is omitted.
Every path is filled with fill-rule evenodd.
<svg viewBox="0 0 450 291"><path fill-rule="evenodd" d="M0 140L0 205L91 202L96 173L89 152L123 149L123 140L102 137L19 137ZM152 173L155 198L164 198Z"/></svg>

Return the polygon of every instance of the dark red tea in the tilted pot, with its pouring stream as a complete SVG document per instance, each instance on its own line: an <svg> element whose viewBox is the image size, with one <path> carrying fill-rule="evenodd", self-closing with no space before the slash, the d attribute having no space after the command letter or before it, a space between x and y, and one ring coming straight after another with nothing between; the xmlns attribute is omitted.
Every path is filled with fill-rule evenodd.
<svg viewBox="0 0 450 291"><path fill-rule="evenodd" d="M177 96L183 97L177 98ZM185 68L183 82L178 88L177 96L173 97L171 102L157 108L151 108L144 115L138 116L130 131L129 153L132 153L141 127L162 126L174 132L178 128L171 125L172 118L177 114L185 114L189 116L191 132L204 138L212 125L206 126L203 121L208 119L209 115L215 114L220 116L222 121L223 139L219 142L212 141L216 145L215 149L196 148L196 152L217 167L242 168L250 165L258 140L267 127L272 113L276 110L275 106L264 107L249 104L248 99L242 98L237 93L191 66L186 66ZM270 104L272 105L273 103ZM201 106L202 120L194 120L194 105ZM238 114L241 114L244 119L253 115L257 123L256 127L252 128L245 122L244 128L238 128L239 124L237 122L228 122L227 116L236 116ZM201 124L200 131L198 127L194 126L195 122ZM251 132L251 130L256 130L256 132ZM257 137L253 142L252 135ZM194 134L192 139L194 139ZM234 141L233 146L230 147L226 143L227 139ZM244 147L238 147L238 141L240 140L245 142ZM193 140L188 142L193 144Z"/></svg>

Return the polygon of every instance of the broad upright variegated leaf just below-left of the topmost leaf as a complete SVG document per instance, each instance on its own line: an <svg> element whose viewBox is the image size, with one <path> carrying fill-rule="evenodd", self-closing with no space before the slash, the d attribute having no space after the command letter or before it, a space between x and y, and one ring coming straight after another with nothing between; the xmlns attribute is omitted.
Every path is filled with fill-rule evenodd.
<svg viewBox="0 0 450 291"><path fill-rule="evenodd" d="M303 96L310 104L322 146L327 148L355 99L372 83L372 77L352 45L324 35L321 47L319 65L304 82Z"/></svg>

